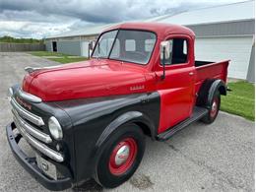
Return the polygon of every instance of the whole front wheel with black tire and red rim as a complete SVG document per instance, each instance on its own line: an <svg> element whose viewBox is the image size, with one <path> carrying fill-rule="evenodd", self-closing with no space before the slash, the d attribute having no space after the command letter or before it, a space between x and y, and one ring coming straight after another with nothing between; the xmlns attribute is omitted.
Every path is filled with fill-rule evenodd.
<svg viewBox="0 0 256 192"><path fill-rule="evenodd" d="M145 136L135 124L119 127L110 136L96 165L96 181L114 188L128 180L139 166L145 151Z"/></svg>

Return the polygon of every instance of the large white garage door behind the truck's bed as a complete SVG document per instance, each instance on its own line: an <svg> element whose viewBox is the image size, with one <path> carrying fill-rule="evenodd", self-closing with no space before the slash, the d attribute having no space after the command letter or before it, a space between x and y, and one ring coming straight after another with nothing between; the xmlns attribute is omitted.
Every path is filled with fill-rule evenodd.
<svg viewBox="0 0 256 192"><path fill-rule="evenodd" d="M246 79L252 41L252 36L197 38L196 60L221 61L230 59L228 77Z"/></svg>

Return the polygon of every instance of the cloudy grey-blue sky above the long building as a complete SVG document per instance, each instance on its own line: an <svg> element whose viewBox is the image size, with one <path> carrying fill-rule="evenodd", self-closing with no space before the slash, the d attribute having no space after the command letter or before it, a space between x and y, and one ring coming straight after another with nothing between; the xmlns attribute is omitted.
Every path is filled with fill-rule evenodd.
<svg viewBox="0 0 256 192"><path fill-rule="evenodd" d="M0 36L44 38L95 25L245 0L0 0Z"/></svg>

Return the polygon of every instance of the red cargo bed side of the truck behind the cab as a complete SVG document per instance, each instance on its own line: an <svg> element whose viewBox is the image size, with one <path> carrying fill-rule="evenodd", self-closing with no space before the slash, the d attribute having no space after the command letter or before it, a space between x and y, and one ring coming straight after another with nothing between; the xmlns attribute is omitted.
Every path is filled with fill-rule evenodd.
<svg viewBox="0 0 256 192"><path fill-rule="evenodd" d="M226 83L229 60L221 62L195 61L196 66L196 92L206 79L221 79Z"/></svg>

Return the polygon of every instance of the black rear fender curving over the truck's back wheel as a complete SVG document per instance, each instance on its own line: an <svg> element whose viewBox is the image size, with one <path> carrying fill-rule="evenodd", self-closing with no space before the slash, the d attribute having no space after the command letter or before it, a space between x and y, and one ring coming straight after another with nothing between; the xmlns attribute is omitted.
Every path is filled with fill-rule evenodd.
<svg viewBox="0 0 256 192"><path fill-rule="evenodd" d="M226 86L223 80L206 80L200 88L197 105L211 108L211 102L216 92L226 96Z"/></svg>

